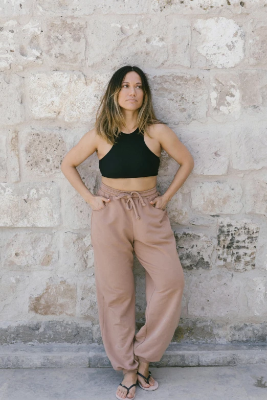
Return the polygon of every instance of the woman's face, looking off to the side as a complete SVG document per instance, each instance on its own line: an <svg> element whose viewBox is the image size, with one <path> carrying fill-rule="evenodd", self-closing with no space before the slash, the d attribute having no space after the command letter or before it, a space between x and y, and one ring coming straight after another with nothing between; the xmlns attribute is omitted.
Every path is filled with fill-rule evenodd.
<svg viewBox="0 0 267 400"><path fill-rule="evenodd" d="M121 84L118 96L119 105L125 110L135 111L142 106L144 92L139 74L135 71L128 72Z"/></svg>

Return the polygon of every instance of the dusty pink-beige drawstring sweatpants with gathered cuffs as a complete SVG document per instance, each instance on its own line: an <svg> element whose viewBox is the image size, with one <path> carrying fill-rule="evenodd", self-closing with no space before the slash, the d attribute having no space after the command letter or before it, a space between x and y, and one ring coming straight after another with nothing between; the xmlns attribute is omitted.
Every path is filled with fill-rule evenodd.
<svg viewBox="0 0 267 400"><path fill-rule="evenodd" d="M115 370L137 372L138 361L160 361L179 324L184 273L167 210L149 201L157 187L121 191L101 183L98 196L110 198L92 210L100 331ZM145 268L145 324L135 335L133 251Z"/></svg>

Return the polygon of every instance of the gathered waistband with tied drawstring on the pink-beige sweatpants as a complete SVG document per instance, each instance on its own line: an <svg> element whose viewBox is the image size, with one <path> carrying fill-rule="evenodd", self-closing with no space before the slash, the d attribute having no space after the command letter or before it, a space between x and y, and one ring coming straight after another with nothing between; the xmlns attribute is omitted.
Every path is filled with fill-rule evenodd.
<svg viewBox="0 0 267 400"><path fill-rule="evenodd" d="M105 185L103 182L101 182L100 189L103 192L108 193L109 195L114 197L115 200L119 200L122 198L127 199L127 201L125 203L126 209L130 210L133 208L133 210L135 211L136 219L138 219L138 220L140 219L140 216L138 215L135 202L133 202L132 198L139 197L141 204L143 206L146 206L146 203L143 200L144 197L149 197L155 193L160 195L160 192L157 191L157 186L151 187L151 189L143 190L143 191L135 191L135 190L123 191L123 190L119 190L119 189L114 189L113 187Z"/></svg>

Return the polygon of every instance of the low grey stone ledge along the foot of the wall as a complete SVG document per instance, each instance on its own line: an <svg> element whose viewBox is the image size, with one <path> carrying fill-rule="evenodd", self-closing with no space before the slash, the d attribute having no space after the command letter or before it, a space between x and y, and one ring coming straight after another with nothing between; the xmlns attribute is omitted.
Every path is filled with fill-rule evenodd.
<svg viewBox="0 0 267 400"><path fill-rule="evenodd" d="M267 343L171 343L161 361L151 367L267 364ZM0 346L0 368L110 367L98 344L6 344Z"/></svg>

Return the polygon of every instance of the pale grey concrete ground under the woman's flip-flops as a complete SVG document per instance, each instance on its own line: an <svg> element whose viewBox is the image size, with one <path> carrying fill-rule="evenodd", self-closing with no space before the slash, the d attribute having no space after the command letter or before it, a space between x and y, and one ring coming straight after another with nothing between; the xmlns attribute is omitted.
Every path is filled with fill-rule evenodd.
<svg viewBox="0 0 267 400"><path fill-rule="evenodd" d="M159 388L136 400L266 400L267 365L151 367ZM121 382L113 368L2 368L0 400L109 400Z"/></svg>

